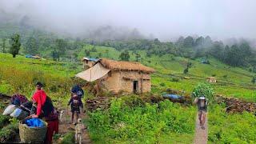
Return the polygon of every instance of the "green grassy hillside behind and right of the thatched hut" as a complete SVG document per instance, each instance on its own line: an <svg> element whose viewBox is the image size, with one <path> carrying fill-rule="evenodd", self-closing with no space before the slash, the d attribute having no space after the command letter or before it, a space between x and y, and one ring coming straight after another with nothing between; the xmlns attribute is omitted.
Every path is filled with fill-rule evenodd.
<svg viewBox="0 0 256 144"><path fill-rule="evenodd" d="M80 51L79 56L85 56L85 50L92 49L93 46L87 45ZM91 52L90 57L99 57L102 53L102 58L112 58L118 60L121 51L114 48L96 46L97 52ZM106 50L109 52L106 53ZM254 73L248 70L227 66L214 58L210 58L210 65L202 64L200 59L191 60L187 58L174 57L173 55L166 54L161 58L152 56L146 57L145 51L137 51L141 54L142 62L146 66L153 67L157 72L152 75L153 91L170 88L174 90L185 90L186 94L190 94L194 86L198 82L206 82L206 78L214 76L217 78L217 83L212 84L216 94L223 94L228 97L242 98L248 101L256 102L256 85L252 84L251 79ZM130 51L130 61L135 61L135 54ZM188 74L183 74L187 62L192 62L192 67L189 69ZM190 79L185 79L189 77ZM173 82L172 78L178 78L178 82ZM164 82L165 86L159 86Z"/></svg>

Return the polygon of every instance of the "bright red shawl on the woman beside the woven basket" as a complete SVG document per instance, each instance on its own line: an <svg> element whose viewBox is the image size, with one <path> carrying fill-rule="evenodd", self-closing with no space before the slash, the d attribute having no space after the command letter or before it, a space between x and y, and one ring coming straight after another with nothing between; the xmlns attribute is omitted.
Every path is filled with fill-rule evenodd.
<svg viewBox="0 0 256 144"><path fill-rule="evenodd" d="M37 90L33 97L32 97L34 102L37 102L37 115L39 116L42 113L42 106L46 102L46 92L44 90Z"/></svg>

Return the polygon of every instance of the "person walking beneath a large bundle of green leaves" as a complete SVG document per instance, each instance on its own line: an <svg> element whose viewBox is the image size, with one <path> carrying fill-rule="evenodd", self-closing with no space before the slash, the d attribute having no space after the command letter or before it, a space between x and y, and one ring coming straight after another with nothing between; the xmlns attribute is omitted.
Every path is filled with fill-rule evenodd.
<svg viewBox="0 0 256 144"><path fill-rule="evenodd" d="M198 105L198 119L200 122L200 126L204 130L205 122L206 122L206 113L207 113L207 100L205 96L195 98L194 103Z"/></svg>

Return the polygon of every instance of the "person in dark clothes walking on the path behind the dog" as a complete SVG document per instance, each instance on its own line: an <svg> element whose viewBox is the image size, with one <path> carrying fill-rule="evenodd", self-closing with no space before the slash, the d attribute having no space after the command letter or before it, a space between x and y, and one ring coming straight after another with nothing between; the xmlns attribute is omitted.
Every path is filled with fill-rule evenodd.
<svg viewBox="0 0 256 144"><path fill-rule="evenodd" d="M78 116L80 114L80 106L82 106L82 100L81 98L78 97L78 94L73 94L72 97L70 98L70 102L68 103L68 106L71 106L71 113L72 113L72 118L71 118L71 123L76 124L78 122ZM76 114L76 121L74 122L74 114Z"/></svg>

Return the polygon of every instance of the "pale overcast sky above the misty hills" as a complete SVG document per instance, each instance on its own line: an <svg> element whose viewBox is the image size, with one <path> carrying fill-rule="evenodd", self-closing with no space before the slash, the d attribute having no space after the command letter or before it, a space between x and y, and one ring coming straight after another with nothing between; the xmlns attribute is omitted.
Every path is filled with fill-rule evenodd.
<svg viewBox="0 0 256 144"><path fill-rule="evenodd" d="M162 39L255 38L255 7L256 0L1 0L0 16L27 15L35 26L74 34L111 25Z"/></svg>

